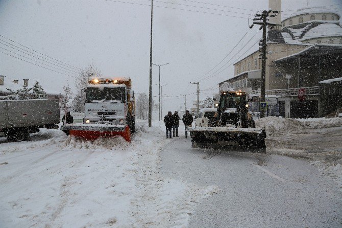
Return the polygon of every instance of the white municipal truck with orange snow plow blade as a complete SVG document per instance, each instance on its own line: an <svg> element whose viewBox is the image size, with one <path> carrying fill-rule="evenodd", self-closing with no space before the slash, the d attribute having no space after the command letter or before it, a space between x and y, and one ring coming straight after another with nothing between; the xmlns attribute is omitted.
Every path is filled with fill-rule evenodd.
<svg viewBox="0 0 342 228"><path fill-rule="evenodd" d="M86 140L99 137L122 136L131 142L135 131L135 98L130 78L89 77L88 86L79 92L79 101L85 93L83 123L64 124L61 130Z"/></svg>

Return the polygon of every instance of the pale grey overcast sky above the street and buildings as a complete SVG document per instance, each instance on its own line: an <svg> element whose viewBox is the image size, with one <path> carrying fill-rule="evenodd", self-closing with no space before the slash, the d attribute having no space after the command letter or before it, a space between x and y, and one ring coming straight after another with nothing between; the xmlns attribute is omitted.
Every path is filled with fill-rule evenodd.
<svg viewBox="0 0 342 228"><path fill-rule="evenodd" d="M335 4L341 4L341 1L309 1L309 7ZM0 35L3 37L0 39L3 41L0 40L0 47L2 47L0 51L61 73L66 73L61 71L66 70L68 72L66 74L76 77L78 70L75 68L64 66L66 69L60 69L52 65L59 69L57 70L42 65L36 61L43 61L12 49L15 47L4 41L15 44L8 40L11 39L81 69L92 61L101 69L104 76L131 77L135 93L148 93L151 23L151 6L149 5L151 1L148 0L2 0L0 1ZM174 96L196 92L197 86L189 84L190 81L200 81L200 89L209 89L203 90L200 95L200 98L205 98L217 91L215 85L218 82L234 75L232 64L261 37L258 27L251 29L238 47L214 70L212 69L249 30L248 14L268 9L268 1L160 0L154 1L154 6L156 7L154 7L153 15L153 63L169 63L161 67L161 84L167 84L163 87L163 94L170 96L163 100L164 115L167 110L179 110L179 103L182 103L182 109L184 108L184 97ZM341 8L336 8L341 6L327 8L340 11ZM303 7L307 7L307 0L282 1L282 10ZM294 11L286 13L291 12ZM288 16L283 15L282 18ZM252 40L248 42L251 38ZM21 47L19 44L15 45ZM255 50L256 45L243 56ZM6 51L4 48L35 59L35 61ZM217 71L231 58L228 64ZM206 74L207 72L209 73ZM75 86L74 77L43 69L3 53L0 53L0 74L11 79L29 78L30 85L35 80L39 80L45 89L57 92L60 92L66 83ZM158 101L158 85L155 84L158 84L157 66L153 67L152 90L154 99ZM192 106L192 100L196 99L196 94L188 95L187 108Z"/></svg>

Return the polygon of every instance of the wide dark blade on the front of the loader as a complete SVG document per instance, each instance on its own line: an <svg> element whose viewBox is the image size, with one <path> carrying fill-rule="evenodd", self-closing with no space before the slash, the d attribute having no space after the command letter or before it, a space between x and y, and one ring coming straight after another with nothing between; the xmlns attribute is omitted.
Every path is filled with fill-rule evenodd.
<svg viewBox="0 0 342 228"><path fill-rule="evenodd" d="M193 127L188 128L193 148L226 148L232 146L265 150L265 128Z"/></svg>

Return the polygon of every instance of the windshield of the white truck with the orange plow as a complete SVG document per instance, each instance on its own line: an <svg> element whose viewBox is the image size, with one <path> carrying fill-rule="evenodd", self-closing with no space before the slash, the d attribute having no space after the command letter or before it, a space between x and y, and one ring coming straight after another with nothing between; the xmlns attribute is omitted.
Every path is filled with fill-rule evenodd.
<svg viewBox="0 0 342 228"><path fill-rule="evenodd" d="M88 87L86 91L86 102L92 103L93 101L121 101L125 103L125 88L97 88Z"/></svg>

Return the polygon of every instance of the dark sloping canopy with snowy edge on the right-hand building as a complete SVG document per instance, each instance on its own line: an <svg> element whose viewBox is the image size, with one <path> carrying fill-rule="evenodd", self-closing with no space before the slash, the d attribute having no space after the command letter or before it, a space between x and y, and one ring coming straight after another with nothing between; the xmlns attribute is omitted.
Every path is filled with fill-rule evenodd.
<svg viewBox="0 0 342 228"><path fill-rule="evenodd" d="M297 63L298 58L312 61L325 60L339 60L342 61L342 45L340 44L314 44L310 47L280 59L275 60L275 63Z"/></svg>

